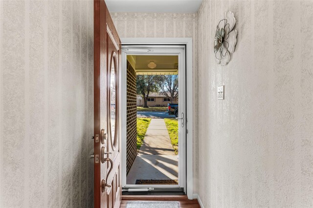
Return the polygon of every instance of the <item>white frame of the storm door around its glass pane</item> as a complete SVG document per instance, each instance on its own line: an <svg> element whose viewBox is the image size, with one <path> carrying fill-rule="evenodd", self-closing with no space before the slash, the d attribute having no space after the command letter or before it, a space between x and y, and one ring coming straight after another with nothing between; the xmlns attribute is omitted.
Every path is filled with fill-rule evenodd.
<svg viewBox="0 0 313 208"><path fill-rule="evenodd" d="M146 50L146 51L138 51L139 50ZM130 51L127 51L130 50ZM124 45L122 46L122 79L123 76L127 76L127 69L126 69L126 63L127 63L127 56L128 55L139 55L139 56L178 56L178 74L179 74L179 117L182 117L183 114L186 114L186 60L185 60L185 45L140 45L140 46L134 46L134 45ZM122 88L123 92L127 92L126 86L123 86ZM122 93L123 95L123 93ZM126 93L122 96L121 102L123 110L127 107L127 99L126 99ZM168 190L169 188L179 188L179 190L183 189L185 190L186 187L186 132L185 132L185 126L182 127L182 124L185 124L185 118L179 119L179 129L178 129L178 145L179 145L179 154L178 154L178 185L149 185L149 188L162 188L162 190ZM122 116L122 126L127 126L126 117ZM126 132L124 132L124 135ZM122 136L122 146L126 147L127 139L125 136ZM124 156L124 159L126 157ZM126 161L127 162L127 161ZM122 167L125 169L127 167L126 163L122 164ZM125 188L146 188L147 185L137 185L137 184L129 184L127 183L127 176L126 171L122 171L122 187ZM126 181L126 182L125 182ZM159 189L160 190L160 189ZM173 190L173 189L172 189Z"/></svg>

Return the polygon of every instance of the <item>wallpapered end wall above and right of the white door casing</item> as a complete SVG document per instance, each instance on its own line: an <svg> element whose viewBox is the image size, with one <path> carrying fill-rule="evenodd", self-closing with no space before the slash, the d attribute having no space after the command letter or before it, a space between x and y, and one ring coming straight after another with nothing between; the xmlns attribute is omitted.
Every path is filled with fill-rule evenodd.
<svg viewBox="0 0 313 208"><path fill-rule="evenodd" d="M192 38L193 41L193 93L195 101L194 124L197 129L197 14L195 13L112 13L120 38ZM197 131L193 133L194 152L198 151ZM196 164L196 157L194 157ZM194 176L197 171L194 169ZM195 184L196 185L196 184Z"/></svg>

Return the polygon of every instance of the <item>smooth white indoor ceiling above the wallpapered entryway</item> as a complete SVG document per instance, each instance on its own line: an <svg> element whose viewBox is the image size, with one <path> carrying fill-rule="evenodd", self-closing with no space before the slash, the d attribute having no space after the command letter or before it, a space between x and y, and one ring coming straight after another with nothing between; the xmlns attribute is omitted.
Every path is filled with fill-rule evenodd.
<svg viewBox="0 0 313 208"><path fill-rule="evenodd" d="M202 0L106 0L110 12L195 13Z"/></svg>

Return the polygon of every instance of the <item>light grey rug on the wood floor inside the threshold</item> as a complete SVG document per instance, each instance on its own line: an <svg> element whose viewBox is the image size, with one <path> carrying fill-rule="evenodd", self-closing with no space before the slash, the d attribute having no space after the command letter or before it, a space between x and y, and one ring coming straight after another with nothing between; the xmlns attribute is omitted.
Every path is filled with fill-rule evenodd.
<svg viewBox="0 0 313 208"><path fill-rule="evenodd" d="M126 208L179 208L179 202L127 202Z"/></svg>

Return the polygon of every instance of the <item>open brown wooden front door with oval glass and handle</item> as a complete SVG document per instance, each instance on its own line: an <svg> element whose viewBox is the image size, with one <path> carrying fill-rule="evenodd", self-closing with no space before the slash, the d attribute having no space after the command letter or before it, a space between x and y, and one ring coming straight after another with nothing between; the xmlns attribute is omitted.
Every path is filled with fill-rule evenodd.
<svg viewBox="0 0 313 208"><path fill-rule="evenodd" d="M104 0L94 0L94 207L119 208L121 45Z"/></svg>

